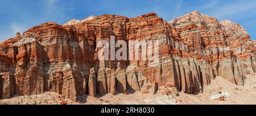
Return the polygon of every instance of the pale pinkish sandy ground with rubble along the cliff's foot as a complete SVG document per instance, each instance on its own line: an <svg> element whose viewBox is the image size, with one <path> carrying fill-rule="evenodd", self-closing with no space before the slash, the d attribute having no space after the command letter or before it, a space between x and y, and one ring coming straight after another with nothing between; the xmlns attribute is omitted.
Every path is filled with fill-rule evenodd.
<svg viewBox="0 0 256 116"><path fill-rule="evenodd" d="M204 92L198 94L168 92L159 88L158 93L134 94L119 93L116 96L107 94L103 97L80 96L79 101L65 99L54 92L46 92L33 96L15 96L0 100L0 104L12 105L255 105L256 104L256 74L246 75L245 86L234 85L222 77L216 77L212 84L205 86ZM213 100L211 95L216 92L225 93L224 100Z"/></svg>

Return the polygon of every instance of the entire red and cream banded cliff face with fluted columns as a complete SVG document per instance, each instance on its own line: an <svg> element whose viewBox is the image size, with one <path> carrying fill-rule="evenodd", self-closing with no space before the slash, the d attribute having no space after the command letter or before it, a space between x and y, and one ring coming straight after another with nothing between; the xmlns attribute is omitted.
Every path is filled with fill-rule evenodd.
<svg viewBox="0 0 256 116"><path fill-rule="evenodd" d="M97 42L113 35L127 43L160 40L159 63L99 61ZM197 11L170 22L150 13L43 23L0 43L0 97L57 92L76 100L83 94L155 93L158 86L197 93L216 76L243 85L245 74L255 72L254 43L239 24Z"/></svg>

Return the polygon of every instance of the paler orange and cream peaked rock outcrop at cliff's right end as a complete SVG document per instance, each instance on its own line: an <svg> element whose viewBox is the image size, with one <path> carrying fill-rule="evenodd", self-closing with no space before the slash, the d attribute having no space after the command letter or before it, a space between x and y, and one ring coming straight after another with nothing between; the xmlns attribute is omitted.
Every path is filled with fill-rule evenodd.
<svg viewBox="0 0 256 116"><path fill-rule="evenodd" d="M255 72L253 68L247 68L255 65L254 55L249 53L252 53L250 49L254 48L254 42L239 24L228 20L218 22L198 11L171 20L170 24L175 27L175 38L184 43L181 46L187 51L181 50L180 56L197 60L195 65L201 75L196 76L201 78L197 79L200 80L197 84L201 87L216 76L243 85L245 74Z"/></svg>

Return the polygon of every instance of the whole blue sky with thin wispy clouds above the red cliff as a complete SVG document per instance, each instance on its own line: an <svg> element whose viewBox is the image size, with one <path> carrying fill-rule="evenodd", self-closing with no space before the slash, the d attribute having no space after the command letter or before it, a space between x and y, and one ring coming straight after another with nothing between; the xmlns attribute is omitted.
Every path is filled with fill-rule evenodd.
<svg viewBox="0 0 256 116"><path fill-rule="evenodd" d="M71 19L84 19L89 15L117 14L136 17L157 13L171 20L198 10L240 23L256 39L255 0L8 0L0 4L0 42L13 38L44 22L63 24Z"/></svg>

